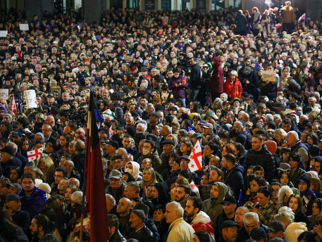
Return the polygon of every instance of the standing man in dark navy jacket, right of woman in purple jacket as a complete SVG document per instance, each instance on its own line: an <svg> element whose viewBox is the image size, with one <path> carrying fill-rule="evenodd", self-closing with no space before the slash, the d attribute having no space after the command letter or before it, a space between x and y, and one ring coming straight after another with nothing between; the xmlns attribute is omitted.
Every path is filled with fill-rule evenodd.
<svg viewBox="0 0 322 242"><path fill-rule="evenodd" d="M201 71L200 66L197 64L196 57L190 58L190 79L189 79L189 100L194 101L201 89Z"/></svg>

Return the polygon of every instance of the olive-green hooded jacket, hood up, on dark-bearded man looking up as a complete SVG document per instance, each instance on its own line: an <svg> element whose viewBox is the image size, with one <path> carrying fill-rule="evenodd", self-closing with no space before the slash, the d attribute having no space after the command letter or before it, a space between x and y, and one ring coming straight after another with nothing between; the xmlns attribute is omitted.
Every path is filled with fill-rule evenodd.
<svg viewBox="0 0 322 242"><path fill-rule="evenodd" d="M223 199L228 191L228 187L225 184L223 184L222 182L214 182L213 185L218 186L218 190L219 190L218 197L215 199L209 198L209 199L205 200L203 202L202 211L204 211L206 214L208 214L211 221L213 221L212 227L214 229L215 225L216 225L216 219L217 219L218 215L221 214L223 211L223 207L220 203L223 201Z"/></svg>

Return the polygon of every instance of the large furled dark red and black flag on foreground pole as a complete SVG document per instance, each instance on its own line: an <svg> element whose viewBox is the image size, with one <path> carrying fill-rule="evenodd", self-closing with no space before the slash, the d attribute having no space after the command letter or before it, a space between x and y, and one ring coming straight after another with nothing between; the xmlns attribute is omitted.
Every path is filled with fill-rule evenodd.
<svg viewBox="0 0 322 242"><path fill-rule="evenodd" d="M84 170L86 192L84 193L86 194L87 210L89 209L90 211L91 242L105 242L109 239L109 224L102 167L99 133L95 118L94 97L93 92L90 92Z"/></svg>

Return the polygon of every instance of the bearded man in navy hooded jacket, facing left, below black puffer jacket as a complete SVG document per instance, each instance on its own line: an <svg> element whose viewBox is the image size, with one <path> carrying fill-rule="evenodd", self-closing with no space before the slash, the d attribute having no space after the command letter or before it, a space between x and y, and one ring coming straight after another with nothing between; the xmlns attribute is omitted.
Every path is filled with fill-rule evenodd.
<svg viewBox="0 0 322 242"><path fill-rule="evenodd" d="M238 201L238 197L242 186L244 184L243 172L244 167L239 166L235 163L236 157L233 154L227 153L223 155L222 161L222 170L224 172L224 183L229 186L234 192L234 197Z"/></svg>

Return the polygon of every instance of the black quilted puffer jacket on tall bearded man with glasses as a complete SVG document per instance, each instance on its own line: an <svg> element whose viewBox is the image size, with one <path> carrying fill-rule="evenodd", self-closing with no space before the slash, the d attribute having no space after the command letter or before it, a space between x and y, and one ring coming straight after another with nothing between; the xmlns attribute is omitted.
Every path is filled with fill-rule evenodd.
<svg viewBox="0 0 322 242"><path fill-rule="evenodd" d="M251 149L247 152L243 166L247 169L251 165L262 166L264 168L264 178L270 183L274 177L275 161L266 145L262 145L260 151Z"/></svg>

